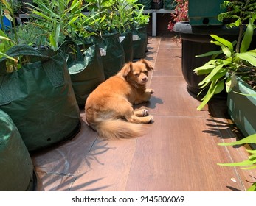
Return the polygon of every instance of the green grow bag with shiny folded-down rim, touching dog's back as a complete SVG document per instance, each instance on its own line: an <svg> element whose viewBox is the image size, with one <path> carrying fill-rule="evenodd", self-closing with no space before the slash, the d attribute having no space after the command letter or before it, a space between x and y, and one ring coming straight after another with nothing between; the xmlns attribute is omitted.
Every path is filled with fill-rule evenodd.
<svg viewBox="0 0 256 206"><path fill-rule="evenodd" d="M99 47L96 44L86 45L82 54L79 46L67 40L60 49L69 56L67 64L77 104L84 107L89 94L105 80Z"/></svg>

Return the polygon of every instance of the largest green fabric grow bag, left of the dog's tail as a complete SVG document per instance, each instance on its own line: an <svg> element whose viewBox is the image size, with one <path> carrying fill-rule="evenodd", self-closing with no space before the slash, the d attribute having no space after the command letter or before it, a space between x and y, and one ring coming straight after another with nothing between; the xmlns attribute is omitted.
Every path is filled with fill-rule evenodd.
<svg viewBox="0 0 256 206"><path fill-rule="evenodd" d="M72 138L80 129L80 111L63 52L48 57L30 46L14 46L7 54L32 60L12 73L0 60L0 109L13 119L27 149Z"/></svg>

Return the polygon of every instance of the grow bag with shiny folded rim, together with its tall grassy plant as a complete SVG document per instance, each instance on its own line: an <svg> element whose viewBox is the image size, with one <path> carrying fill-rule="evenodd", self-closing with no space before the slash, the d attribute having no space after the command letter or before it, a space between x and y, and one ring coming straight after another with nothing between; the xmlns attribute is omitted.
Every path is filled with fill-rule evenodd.
<svg viewBox="0 0 256 206"><path fill-rule="evenodd" d="M98 46L84 42L85 38L94 35L94 32L87 31L85 27L100 19L93 22L91 17L84 15L82 11L85 6L81 0L34 2L35 5L29 4L32 7L32 21L29 24L42 28L45 34L52 34L42 36L46 36L46 42L52 41L56 49L67 54L77 104L83 107L89 93L105 80ZM59 28L57 32L55 28Z"/></svg>

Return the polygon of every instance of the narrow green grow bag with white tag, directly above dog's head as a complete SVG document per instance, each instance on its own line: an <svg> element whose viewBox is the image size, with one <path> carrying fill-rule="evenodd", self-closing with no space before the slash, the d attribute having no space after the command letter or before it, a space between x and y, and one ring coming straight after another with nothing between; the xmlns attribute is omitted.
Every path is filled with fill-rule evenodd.
<svg viewBox="0 0 256 206"><path fill-rule="evenodd" d="M125 32L120 35L120 43L125 52L125 63L134 59L133 33Z"/></svg>

